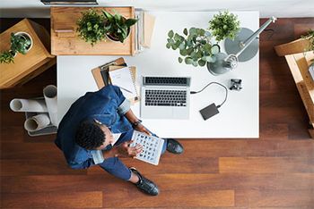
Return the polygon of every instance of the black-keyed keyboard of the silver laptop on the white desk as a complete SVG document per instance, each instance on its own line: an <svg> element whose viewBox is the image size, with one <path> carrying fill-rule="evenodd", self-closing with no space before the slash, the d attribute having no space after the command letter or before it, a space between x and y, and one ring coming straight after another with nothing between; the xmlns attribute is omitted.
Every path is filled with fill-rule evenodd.
<svg viewBox="0 0 314 209"><path fill-rule="evenodd" d="M186 90L145 90L146 106L187 106Z"/></svg>

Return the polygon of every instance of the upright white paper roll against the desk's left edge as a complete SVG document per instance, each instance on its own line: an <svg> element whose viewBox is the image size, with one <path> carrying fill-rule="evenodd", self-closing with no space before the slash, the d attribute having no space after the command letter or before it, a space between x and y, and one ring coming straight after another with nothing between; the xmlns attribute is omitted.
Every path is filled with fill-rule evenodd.
<svg viewBox="0 0 314 209"><path fill-rule="evenodd" d="M50 121L54 126L57 126L57 87L48 85L43 90L45 101L48 108Z"/></svg>

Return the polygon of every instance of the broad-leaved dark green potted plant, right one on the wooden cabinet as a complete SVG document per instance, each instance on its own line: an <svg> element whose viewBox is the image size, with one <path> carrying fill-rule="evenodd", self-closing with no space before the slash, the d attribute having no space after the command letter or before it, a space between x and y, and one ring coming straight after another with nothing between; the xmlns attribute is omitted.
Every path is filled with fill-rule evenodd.
<svg viewBox="0 0 314 209"><path fill-rule="evenodd" d="M130 27L136 23L136 19L126 19L119 13L111 14L102 11L105 17L105 30L107 37L112 41L119 41L121 43L130 34Z"/></svg>

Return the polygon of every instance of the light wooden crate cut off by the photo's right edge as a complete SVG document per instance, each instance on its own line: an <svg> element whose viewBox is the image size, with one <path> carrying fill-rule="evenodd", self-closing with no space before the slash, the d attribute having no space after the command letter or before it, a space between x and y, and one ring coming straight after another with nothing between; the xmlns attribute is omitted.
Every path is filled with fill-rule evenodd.
<svg viewBox="0 0 314 209"><path fill-rule="evenodd" d="M289 54L284 56L292 77L301 95L302 102L310 118L310 126L314 127L314 81L310 77L309 66L314 59L314 51ZM310 136L314 138L314 130L310 129Z"/></svg>

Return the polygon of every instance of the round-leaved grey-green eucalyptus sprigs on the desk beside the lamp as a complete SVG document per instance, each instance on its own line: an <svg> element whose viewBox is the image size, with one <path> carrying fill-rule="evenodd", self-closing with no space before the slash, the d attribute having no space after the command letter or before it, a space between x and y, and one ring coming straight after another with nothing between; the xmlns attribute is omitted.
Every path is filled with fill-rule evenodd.
<svg viewBox="0 0 314 209"><path fill-rule="evenodd" d="M179 54L184 57L186 64L193 66L205 66L206 62L214 62L214 54L218 54L220 47L213 45L211 42L211 33L205 29L183 29L185 37L178 33L174 34L171 29L168 32L167 48L173 50L179 49ZM178 58L179 63L183 62L183 58Z"/></svg>

